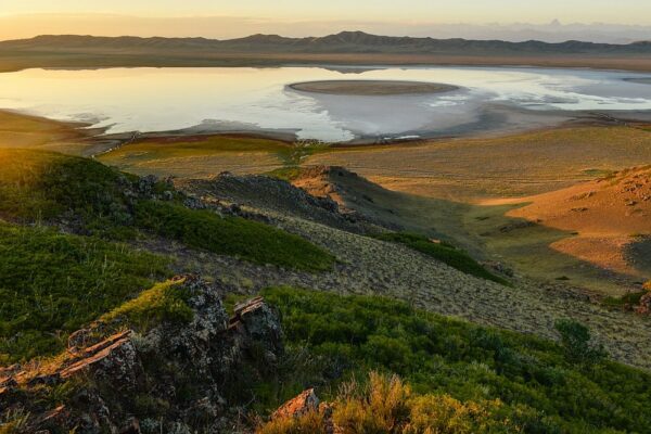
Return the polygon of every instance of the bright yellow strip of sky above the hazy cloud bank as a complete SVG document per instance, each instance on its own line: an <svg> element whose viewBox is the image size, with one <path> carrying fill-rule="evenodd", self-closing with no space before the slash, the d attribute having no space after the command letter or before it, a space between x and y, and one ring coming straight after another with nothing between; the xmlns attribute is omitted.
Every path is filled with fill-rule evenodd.
<svg viewBox="0 0 651 434"><path fill-rule="evenodd" d="M649 0L0 0L0 13L217 14L302 20L651 24Z"/></svg>

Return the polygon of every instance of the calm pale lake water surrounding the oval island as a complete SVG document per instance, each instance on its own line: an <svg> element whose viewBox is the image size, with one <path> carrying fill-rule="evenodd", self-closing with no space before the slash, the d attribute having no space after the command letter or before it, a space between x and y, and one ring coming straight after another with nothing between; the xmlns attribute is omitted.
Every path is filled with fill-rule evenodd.
<svg viewBox="0 0 651 434"><path fill-rule="evenodd" d="M296 81L395 79L456 85L427 95L298 92ZM0 74L0 107L108 132L273 129L324 141L516 129L579 111L650 111L651 75L582 69L408 67L28 69Z"/></svg>

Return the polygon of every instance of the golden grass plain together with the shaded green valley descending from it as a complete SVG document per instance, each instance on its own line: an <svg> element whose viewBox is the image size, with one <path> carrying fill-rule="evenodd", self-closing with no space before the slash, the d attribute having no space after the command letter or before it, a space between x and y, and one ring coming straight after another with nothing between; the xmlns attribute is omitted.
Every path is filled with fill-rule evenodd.
<svg viewBox="0 0 651 434"><path fill-rule="evenodd" d="M637 128L576 127L500 138L340 148L305 163L343 165L396 190L393 197L370 195L378 208L393 209L395 216L388 217L404 220L409 231L446 234L475 257L498 258L536 279L566 276L572 284L621 295L625 290L612 273L550 247L572 237L569 231L524 226L523 219L506 217L514 205L468 202L556 190L651 162L650 143L649 132Z"/></svg>

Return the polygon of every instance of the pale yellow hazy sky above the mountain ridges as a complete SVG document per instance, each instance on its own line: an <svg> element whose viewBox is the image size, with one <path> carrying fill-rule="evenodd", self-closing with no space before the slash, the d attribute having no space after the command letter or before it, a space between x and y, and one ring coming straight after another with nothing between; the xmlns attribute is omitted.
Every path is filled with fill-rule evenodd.
<svg viewBox="0 0 651 434"><path fill-rule="evenodd" d="M320 36L343 29L436 36L437 26L454 30L449 26L456 25L458 33L472 33L472 28L482 27L489 34L490 27L514 23L542 26L551 35L553 28L547 27L554 20L590 25L592 29L607 28L595 23L635 26L643 34L644 29L639 27L651 29L651 1L0 0L0 39L39 34L216 38L252 33ZM638 37L630 35L634 39Z"/></svg>

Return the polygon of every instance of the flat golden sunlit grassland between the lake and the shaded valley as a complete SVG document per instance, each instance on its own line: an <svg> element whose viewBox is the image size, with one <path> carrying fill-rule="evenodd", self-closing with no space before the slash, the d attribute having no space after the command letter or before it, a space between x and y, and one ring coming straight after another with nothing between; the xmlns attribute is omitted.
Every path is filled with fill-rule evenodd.
<svg viewBox="0 0 651 434"><path fill-rule="evenodd" d="M596 171L651 163L651 135L640 128L553 128L505 137L414 144L333 148L306 159L344 166L391 190L477 202L558 190Z"/></svg>

